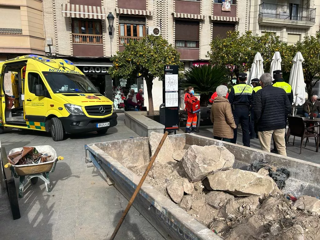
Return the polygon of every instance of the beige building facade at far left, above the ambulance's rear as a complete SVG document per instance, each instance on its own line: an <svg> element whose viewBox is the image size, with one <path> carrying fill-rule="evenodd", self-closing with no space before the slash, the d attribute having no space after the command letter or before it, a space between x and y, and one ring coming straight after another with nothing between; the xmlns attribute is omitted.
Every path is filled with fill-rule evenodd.
<svg viewBox="0 0 320 240"><path fill-rule="evenodd" d="M44 55L42 0L0 0L0 61Z"/></svg>

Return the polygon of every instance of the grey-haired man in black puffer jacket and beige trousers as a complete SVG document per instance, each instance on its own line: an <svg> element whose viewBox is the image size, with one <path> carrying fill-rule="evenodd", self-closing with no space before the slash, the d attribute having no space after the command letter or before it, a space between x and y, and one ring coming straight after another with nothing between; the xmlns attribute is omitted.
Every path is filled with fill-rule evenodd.
<svg viewBox="0 0 320 240"><path fill-rule="evenodd" d="M289 98L282 88L272 86L272 77L269 73L260 77L260 84L262 89L254 94L253 111L261 150L270 152L273 134L279 154L287 156L284 134L285 116L291 111Z"/></svg>

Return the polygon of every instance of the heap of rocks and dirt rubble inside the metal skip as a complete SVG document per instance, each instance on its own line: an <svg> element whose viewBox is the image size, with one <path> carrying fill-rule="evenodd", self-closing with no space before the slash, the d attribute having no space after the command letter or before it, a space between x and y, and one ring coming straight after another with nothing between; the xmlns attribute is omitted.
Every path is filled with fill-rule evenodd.
<svg viewBox="0 0 320 240"><path fill-rule="evenodd" d="M156 161L146 182L222 239L320 240L319 199L284 195L270 176L270 169L277 172L275 166L233 169L234 156L227 149L210 147L219 154L206 155L208 148L190 146L180 162ZM166 151L171 160L168 153L172 150ZM131 170L141 176L146 167Z"/></svg>

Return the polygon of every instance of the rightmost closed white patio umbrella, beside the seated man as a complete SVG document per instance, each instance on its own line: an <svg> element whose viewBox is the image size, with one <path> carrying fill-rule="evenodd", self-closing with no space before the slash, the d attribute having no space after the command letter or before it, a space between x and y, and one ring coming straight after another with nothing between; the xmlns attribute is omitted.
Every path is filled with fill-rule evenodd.
<svg viewBox="0 0 320 240"><path fill-rule="evenodd" d="M293 103L295 106L302 105L305 102L305 86L302 70L304 58L301 52L297 52L292 62L292 68L289 78L289 84L292 86ZM293 110L294 112L294 110Z"/></svg>

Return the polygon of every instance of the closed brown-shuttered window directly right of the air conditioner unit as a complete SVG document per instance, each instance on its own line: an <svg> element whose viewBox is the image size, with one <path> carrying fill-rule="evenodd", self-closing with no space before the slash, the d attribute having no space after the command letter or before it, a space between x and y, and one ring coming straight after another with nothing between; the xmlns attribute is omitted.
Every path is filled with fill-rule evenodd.
<svg viewBox="0 0 320 240"><path fill-rule="evenodd" d="M199 22L176 20L175 44L177 48L199 48Z"/></svg>

